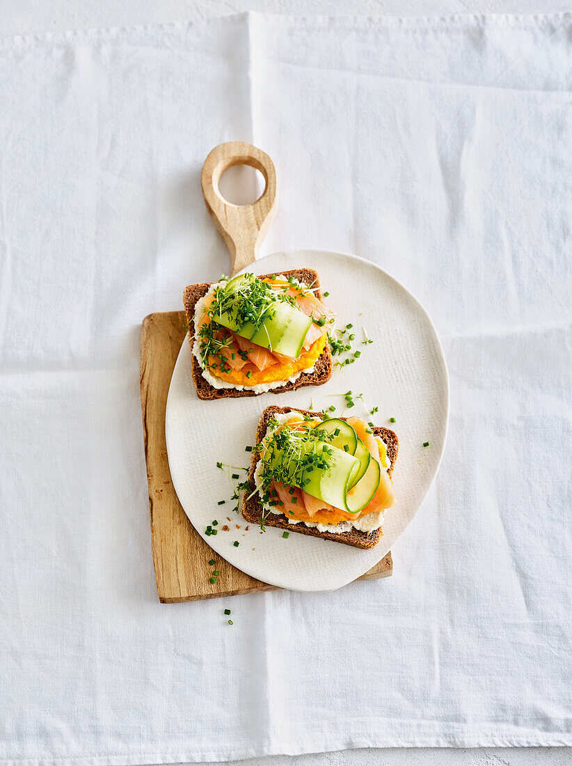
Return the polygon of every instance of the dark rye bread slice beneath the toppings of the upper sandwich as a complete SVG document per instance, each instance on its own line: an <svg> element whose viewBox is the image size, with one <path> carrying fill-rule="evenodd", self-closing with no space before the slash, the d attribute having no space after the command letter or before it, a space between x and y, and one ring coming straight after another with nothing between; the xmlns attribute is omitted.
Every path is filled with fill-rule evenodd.
<svg viewBox="0 0 572 766"><path fill-rule="evenodd" d="M320 282L318 272L313 269L293 269L291 271L281 272L285 277L294 277L294 279L302 282L309 287L315 287L316 298L321 298ZM262 277L272 277L272 274L263 274ZM187 325L191 343L194 340L194 306L197 301L202 298L208 292L211 283L202 283L198 285L189 285L185 287L183 293L183 304L185 306L185 314L187 315ZM302 374L293 382L286 383L279 388L271 389L273 394L283 394L284 391L295 391L296 388L300 388L303 385L322 385L326 383L332 377L332 354L328 343L325 344L325 348L319 357L315 360L314 372L302 372ZM193 377L194 388L196 388L197 396L199 399L224 399L228 397L237 398L242 396L260 396L260 394L254 393L254 391L237 391L236 388L214 388L203 377L203 371L201 365L197 362L197 359L192 355L192 369L191 374Z"/></svg>

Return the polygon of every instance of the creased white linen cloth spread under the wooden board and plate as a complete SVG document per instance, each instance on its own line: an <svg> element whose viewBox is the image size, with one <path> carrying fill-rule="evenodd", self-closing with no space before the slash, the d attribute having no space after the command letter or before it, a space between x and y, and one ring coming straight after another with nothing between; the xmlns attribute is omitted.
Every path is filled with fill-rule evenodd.
<svg viewBox="0 0 572 766"><path fill-rule="evenodd" d="M572 745L571 21L4 41L5 762ZM427 306L449 442L392 578L161 605L139 328L227 270L199 173L234 139L278 170L266 253L353 252Z"/></svg>

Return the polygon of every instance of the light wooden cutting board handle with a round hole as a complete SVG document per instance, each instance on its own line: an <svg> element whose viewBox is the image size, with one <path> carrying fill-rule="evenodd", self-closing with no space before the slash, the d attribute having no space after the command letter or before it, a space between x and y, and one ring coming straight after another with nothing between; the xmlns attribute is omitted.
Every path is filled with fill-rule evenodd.
<svg viewBox="0 0 572 766"><path fill-rule="evenodd" d="M233 205L219 191L221 175L233 165L250 165L264 176L266 188L251 205ZM204 160L201 186L208 211L230 251L230 274L234 276L257 260L260 244L276 216L274 163L266 152L252 144L243 141L219 144Z"/></svg>

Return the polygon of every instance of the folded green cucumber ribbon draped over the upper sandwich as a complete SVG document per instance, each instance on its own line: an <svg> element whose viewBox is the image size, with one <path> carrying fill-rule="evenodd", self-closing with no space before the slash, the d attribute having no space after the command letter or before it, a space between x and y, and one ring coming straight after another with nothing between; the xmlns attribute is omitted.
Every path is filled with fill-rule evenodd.
<svg viewBox="0 0 572 766"><path fill-rule="evenodd" d="M253 274L241 274L240 277L230 280L224 289L230 294L236 293L240 286L247 285L256 279L257 277ZM236 313L232 311L215 313L212 321L265 349L294 358L298 357L308 330L312 326L312 319L296 306L283 300L273 300L266 309L266 315L258 329L253 322L244 322L239 325Z"/></svg>

